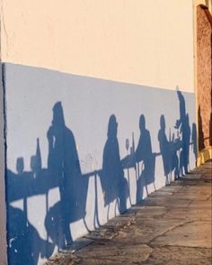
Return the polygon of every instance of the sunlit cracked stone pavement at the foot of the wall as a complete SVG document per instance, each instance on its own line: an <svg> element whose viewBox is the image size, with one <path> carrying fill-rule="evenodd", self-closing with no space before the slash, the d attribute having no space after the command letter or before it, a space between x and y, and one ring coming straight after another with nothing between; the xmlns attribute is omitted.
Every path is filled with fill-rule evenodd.
<svg viewBox="0 0 212 265"><path fill-rule="evenodd" d="M212 264L211 168L161 188L46 264Z"/></svg>

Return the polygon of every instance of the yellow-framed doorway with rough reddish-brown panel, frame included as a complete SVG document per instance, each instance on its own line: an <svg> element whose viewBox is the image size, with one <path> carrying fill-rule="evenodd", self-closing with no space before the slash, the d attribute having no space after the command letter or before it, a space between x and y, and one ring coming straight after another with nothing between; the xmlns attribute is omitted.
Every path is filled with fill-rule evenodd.
<svg viewBox="0 0 212 265"><path fill-rule="evenodd" d="M200 7L200 5L202 7ZM211 0L194 1L194 58L195 58L195 91L196 91L196 117L197 117L197 139L198 158L197 165L211 159L211 41L209 16L212 14ZM205 9L205 11L200 10ZM208 10L206 10L208 8ZM198 16L199 15L199 16ZM205 27L205 28L204 28ZM204 72L202 69L204 68ZM204 75L204 80L203 80ZM209 104L209 105L208 105ZM200 107L199 107L200 106ZM205 139L205 140L204 140ZM210 143L210 145L208 145Z"/></svg>

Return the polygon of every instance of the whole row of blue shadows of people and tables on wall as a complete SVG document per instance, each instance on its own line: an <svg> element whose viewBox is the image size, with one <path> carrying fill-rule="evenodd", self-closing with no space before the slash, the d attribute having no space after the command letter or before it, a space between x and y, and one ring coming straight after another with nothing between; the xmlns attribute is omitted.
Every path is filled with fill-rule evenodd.
<svg viewBox="0 0 212 265"><path fill-rule="evenodd" d="M169 139L165 133L165 117L160 118L158 142L160 153L153 152L151 135L146 128L144 114L139 118L140 136L135 149L134 133L132 147L125 158L120 158L118 142L118 121L114 114L110 115L107 140L103 149L102 169L82 174L75 145L75 136L66 127L63 108L60 102L53 106L53 119L49 126L47 138L49 142L48 168L42 168L40 142L37 139L35 155L31 156L31 171L24 171L24 161L17 159L17 173L7 170L7 237L9 264L37 264L39 257L53 253L55 247L65 248L73 242L70 226L73 222L83 220L84 227L89 232L85 222L88 181L94 176L93 205L94 227L100 225L98 212L97 178L100 178L104 194L104 206L107 206L107 216L110 213L123 213L127 210L127 201L131 202L129 192L129 169L136 172L137 195L139 202L149 194L148 187L155 188L155 158L162 155L164 178L167 184L174 178L179 178L188 172L190 145L196 153L196 126L192 124L192 141L190 142L189 115L186 114L185 100L177 91L180 102L180 118L176 121L177 137L170 130ZM173 124L174 126L174 124ZM129 141L126 141L128 151ZM127 170L127 176L124 174ZM58 187L59 201L49 206L49 190ZM28 198L43 195L46 198L46 216L44 225L46 239L42 239L36 228L29 222ZM22 209L11 204L22 199ZM114 204L115 202L115 204ZM112 204L113 203L113 204ZM111 209L111 205L114 206ZM17 261L18 260L18 261Z"/></svg>

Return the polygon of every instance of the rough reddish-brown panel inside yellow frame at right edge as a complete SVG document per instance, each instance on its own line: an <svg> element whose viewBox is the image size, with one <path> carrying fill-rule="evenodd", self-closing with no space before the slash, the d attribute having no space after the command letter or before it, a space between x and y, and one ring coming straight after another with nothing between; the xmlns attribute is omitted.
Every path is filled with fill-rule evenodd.
<svg viewBox="0 0 212 265"><path fill-rule="evenodd" d="M198 60L198 108L199 108L199 151L209 146L211 118L211 22L206 10L197 7L197 60Z"/></svg>

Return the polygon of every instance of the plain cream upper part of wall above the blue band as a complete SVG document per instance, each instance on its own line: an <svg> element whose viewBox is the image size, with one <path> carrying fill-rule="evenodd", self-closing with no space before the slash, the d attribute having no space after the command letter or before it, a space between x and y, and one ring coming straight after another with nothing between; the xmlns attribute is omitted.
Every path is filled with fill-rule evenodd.
<svg viewBox="0 0 212 265"><path fill-rule="evenodd" d="M2 59L194 91L192 0L2 0Z"/></svg>

